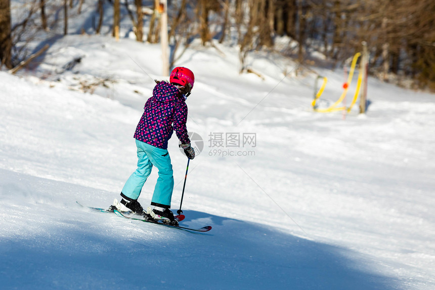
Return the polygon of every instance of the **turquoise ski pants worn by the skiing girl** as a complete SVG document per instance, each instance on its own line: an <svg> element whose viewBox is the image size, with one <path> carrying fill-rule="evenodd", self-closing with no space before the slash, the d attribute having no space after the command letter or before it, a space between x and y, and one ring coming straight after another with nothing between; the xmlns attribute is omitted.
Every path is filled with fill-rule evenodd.
<svg viewBox="0 0 435 290"><path fill-rule="evenodd" d="M138 147L138 169L125 182L122 193L130 198L138 199L154 165L159 170L159 177L151 202L170 207L173 171L169 152L167 149L157 148L139 140L136 140L136 146Z"/></svg>

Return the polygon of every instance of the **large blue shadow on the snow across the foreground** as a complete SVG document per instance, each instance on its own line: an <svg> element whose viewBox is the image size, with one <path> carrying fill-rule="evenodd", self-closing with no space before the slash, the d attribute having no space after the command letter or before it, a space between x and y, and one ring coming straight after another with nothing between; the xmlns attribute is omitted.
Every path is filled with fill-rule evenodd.
<svg viewBox="0 0 435 290"><path fill-rule="evenodd" d="M87 215L88 213L86 213ZM346 249L309 241L262 225L186 211L212 221L208 235L194 235L108 216L125 237L75 221L32 238L0 242L5 288L129 289L393 289L397 281L344 257ZM186 221L187 224L195 220ZM125 225L123 225L125 224ZM151 233L150 233L151 231ZM123 233L122 233L123 234ZM358 262L357 262L358 263ZM360 263L359 263L360 264ZM396 287L395 287L396 286Z"/></svg>

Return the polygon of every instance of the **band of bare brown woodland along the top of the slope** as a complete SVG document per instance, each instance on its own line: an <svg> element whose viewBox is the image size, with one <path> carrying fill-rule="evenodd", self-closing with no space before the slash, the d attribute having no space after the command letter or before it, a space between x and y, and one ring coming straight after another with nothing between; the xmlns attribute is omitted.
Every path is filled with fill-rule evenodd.
<svg viewBox="0 0 435 290"><path fill-rule="evenodd" d="M113 4L113 35L116 36L121 17L120 0L108 1ZM30 54L25 44L34 35L40 35L36 32L41 28L63 28L66 34L68 18L73 17L71 11L68 15L68 6L79 5L80 13L83 2L17 2L25 9L13 13L18 17L11 27L11 13L5 12L10 11L10 0L0 0L2 64L11 67L25 59ZM154 3L155 12L151 16L143 15L145 3ZM241 72L248 70L247 55L253 50L273 48L276 35L287 35L299 43L296 52L299 62L305 60L310 51L322 50L326 57L340 64L360 51L361 42L365 40L370 54L370 73L385 80L391 80L391 74L405 75L412 77L420 87L435 91L433 0L178 0L168 3L171 66L183 54L183 51L176 54L177 50L186 50L195 38L201 39L203 45L212 44L210 40L218 32L221 43L230 40L239 45ZM103 23L103 4L104 0L98 0L97 33ZM129 9L127 0L123 4L132 18L137 40L144 38L141 22L148 17L147 40L158 42L160 1L135 0L136 13ZM229 33L233 33L231 37ZM289 51L288 55L293 57L293 54Z"/></svg>

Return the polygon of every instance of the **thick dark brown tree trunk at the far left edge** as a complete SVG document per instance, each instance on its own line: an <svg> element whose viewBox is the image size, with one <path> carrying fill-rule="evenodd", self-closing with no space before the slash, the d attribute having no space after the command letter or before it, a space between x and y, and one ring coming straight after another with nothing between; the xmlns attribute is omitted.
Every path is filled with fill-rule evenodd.
<svg viewBox="0 0 435 290"><path fill-rule="evenodd" d="M0 61L12 68L11 6L10 0L0 0Z"/></svg>

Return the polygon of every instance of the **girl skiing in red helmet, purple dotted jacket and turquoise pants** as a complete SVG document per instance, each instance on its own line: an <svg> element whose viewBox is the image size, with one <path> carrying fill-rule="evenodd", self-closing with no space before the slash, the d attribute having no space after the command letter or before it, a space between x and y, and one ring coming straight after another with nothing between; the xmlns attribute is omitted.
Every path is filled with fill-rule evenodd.
<svg viewBox="0 0 435 290"><path fill-rule="evenodd" d="M177 224L169 210L173 190L172 164L167 151L167 143L176 132L188 158L195 157L195 151L190 146L187 135L187 105L186 99L193 88L195 76L185 67L172 70L169 83L157 81L153 96L145 103L144 113L138 123L134 137L138 152L138 168L125 182L121 191L120 202L114 200L113 205L118 211L133 211L136 214L161 219L164 222ZM158 169L158 179L154 188L151 205L154 209L144 212L138 197L142 187L151 174L152 167Z"/></svg>

